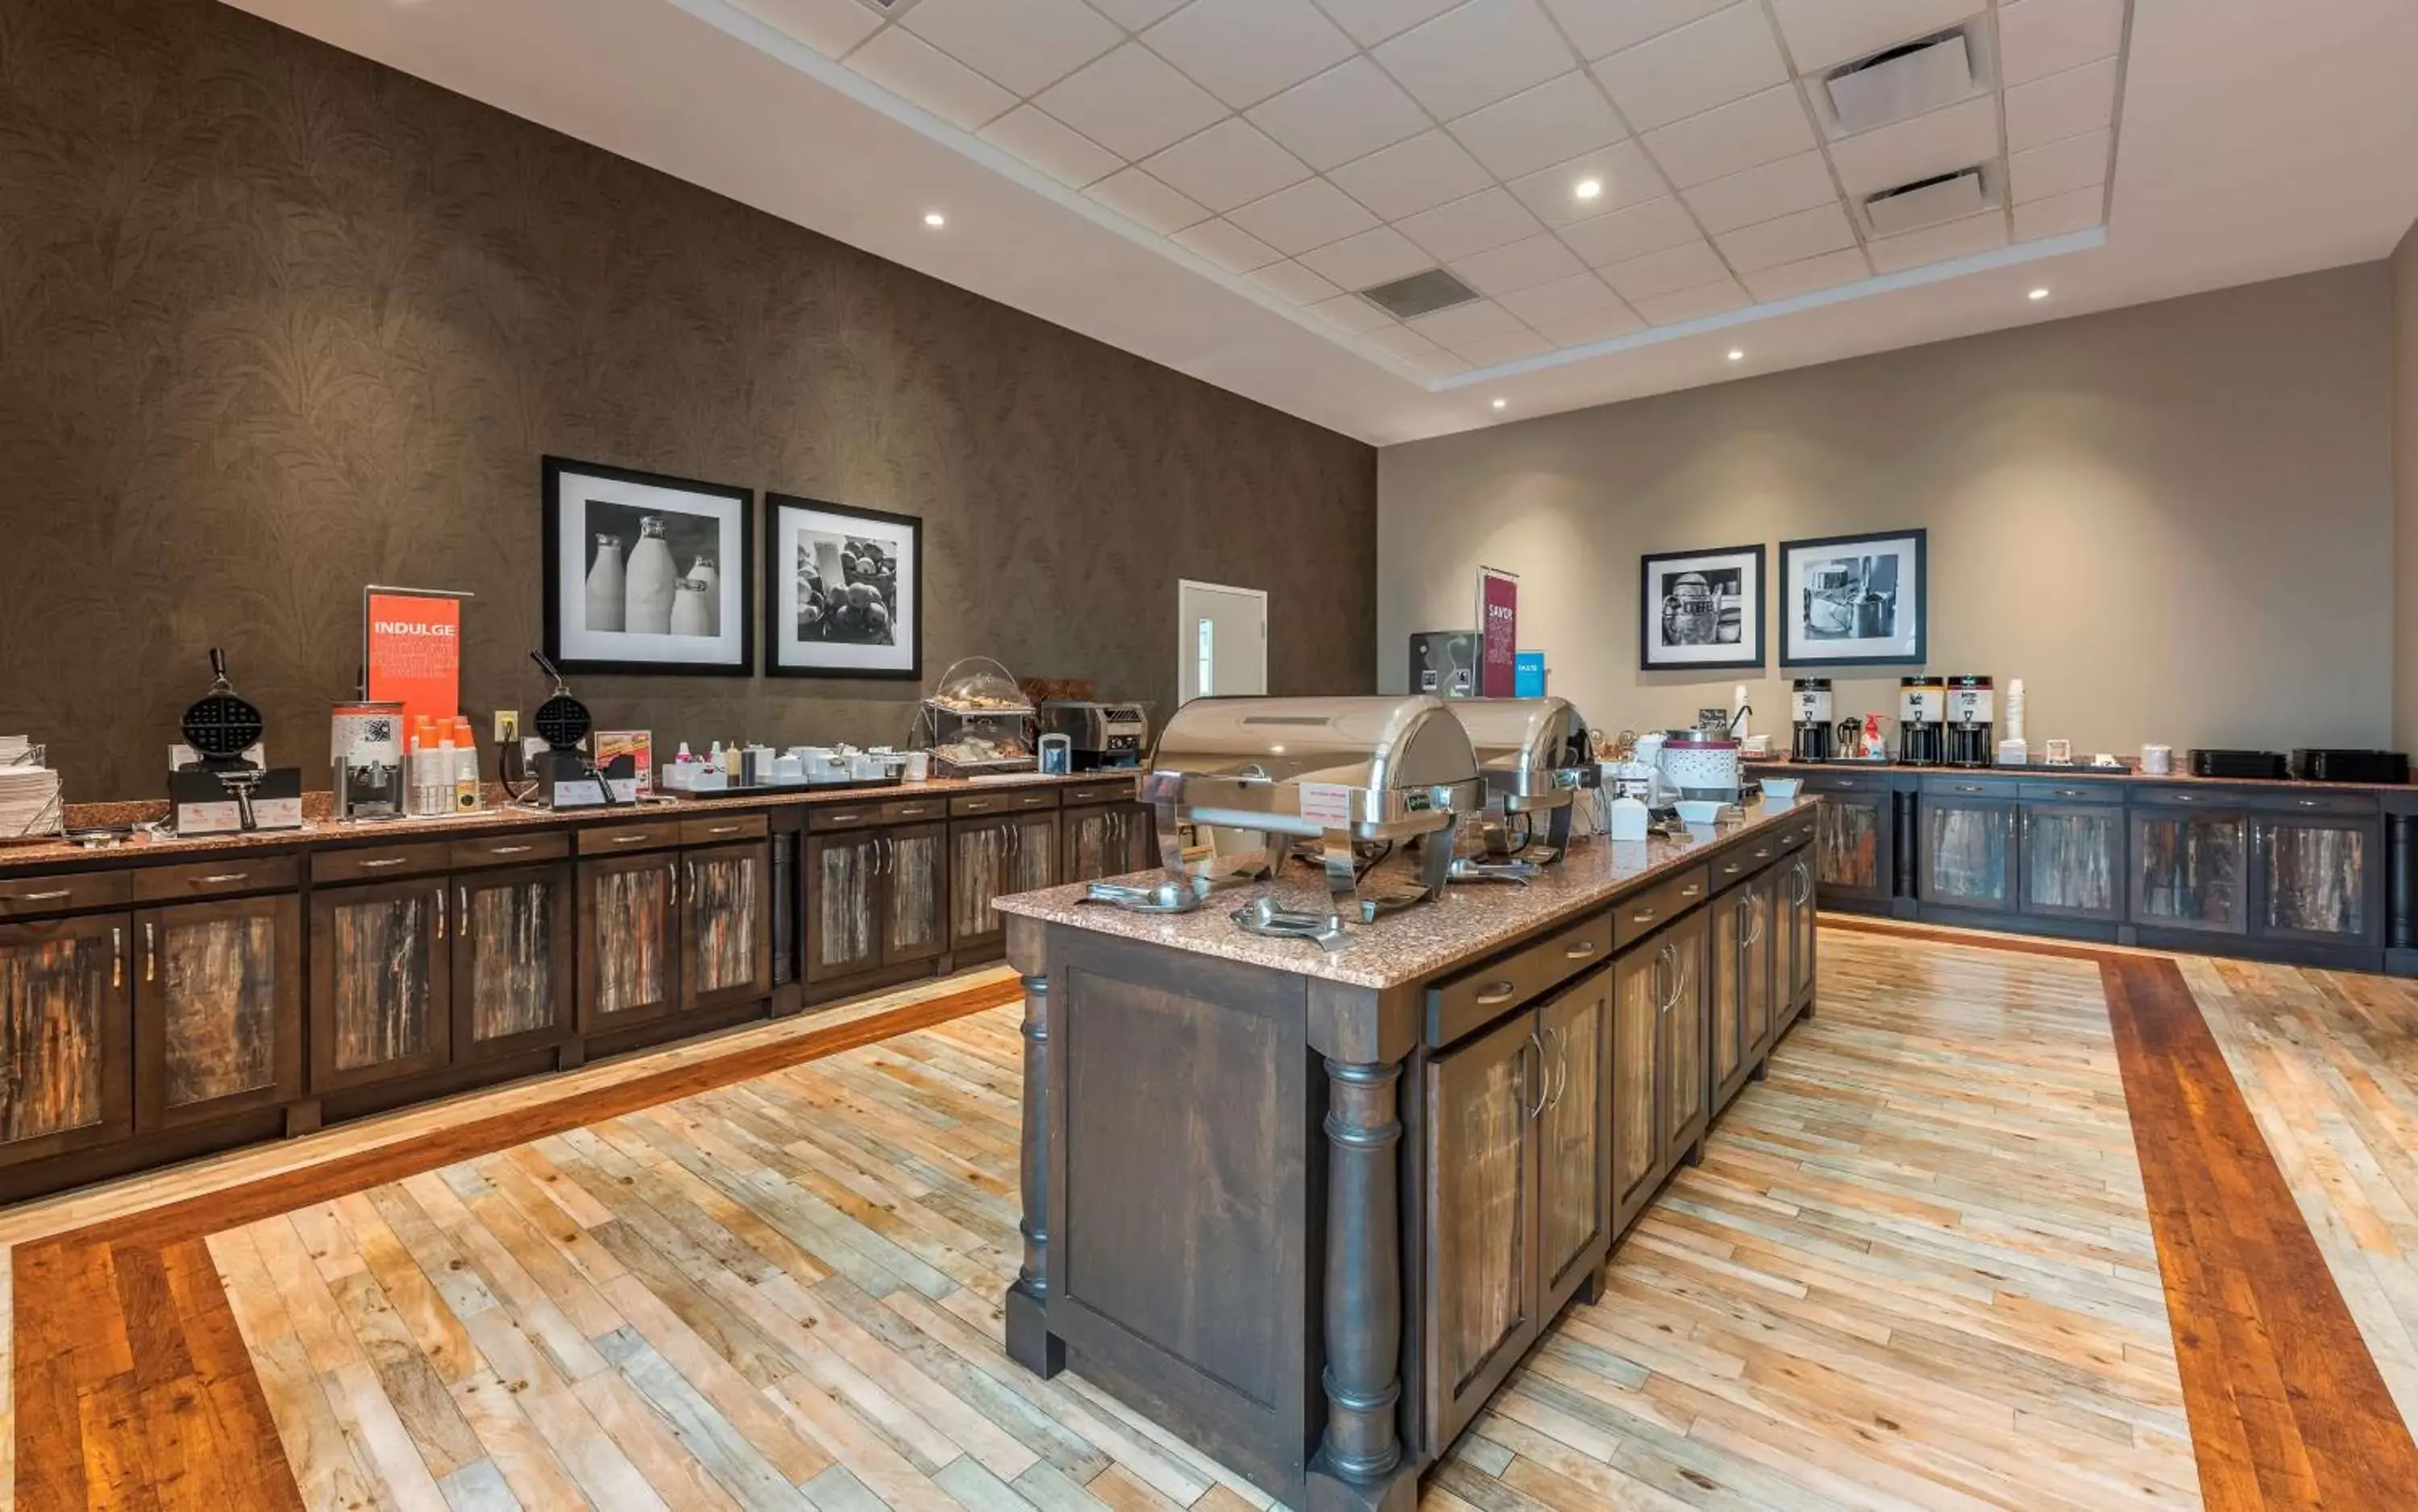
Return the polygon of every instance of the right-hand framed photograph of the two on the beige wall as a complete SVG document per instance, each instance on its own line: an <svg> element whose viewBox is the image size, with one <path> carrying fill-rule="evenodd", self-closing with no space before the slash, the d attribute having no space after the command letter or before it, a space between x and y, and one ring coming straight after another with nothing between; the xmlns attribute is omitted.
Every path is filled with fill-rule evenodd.
<svg viewBox="0 0 2418 1512"><path fill-rule="evenodd" d="M1780 663L1872 668L1922 660L1922 530L1780 542Z"/></svg>

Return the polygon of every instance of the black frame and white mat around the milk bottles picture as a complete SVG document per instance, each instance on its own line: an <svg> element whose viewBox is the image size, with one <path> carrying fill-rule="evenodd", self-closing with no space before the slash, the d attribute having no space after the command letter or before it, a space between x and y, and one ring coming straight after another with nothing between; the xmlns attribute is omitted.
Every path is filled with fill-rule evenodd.
<svg viewBox="0 0 2418 1512"><path fill-rule="evenodd" d="M592 481L604 491L619 494L619 498L583 498L580 501L580 535L566 542L566 491L580 481ZM713 544L716 544L716 656L711 660L682 660L682 658L653 658L634 653L604 653L612 646L607 636L631 634L617 629L600 629L588 624L588 600L585 600L585 573L580 576L580 602L573 607L571 590L563 583L566 549L578 547L583 561L588 561L588 530L590 518L597 508L614 510L646 510L643 501L648 494L658 494L655 501L663 510L687 513L692 520L713 520ZM730 484L711 484L704 479L672 477L667 472L643 472L636 467L614 467L609 462L580 462L575 457L544 457L539 467L539 498L544 501L544 561L539 576L544 578L546 598L546 660L551 660L563 673L609 673L609 675L638 675L638 677L752 677L754 675L754 489L737 489ZM708 510L699 513L694 508L679 510L677 506L687 498L689 503L706 503ZM723 564L737 561L737 571L725 571ZM660 641L660 636L646 636L648 641ZM636 641L634 641L636 646Z"/></svg>

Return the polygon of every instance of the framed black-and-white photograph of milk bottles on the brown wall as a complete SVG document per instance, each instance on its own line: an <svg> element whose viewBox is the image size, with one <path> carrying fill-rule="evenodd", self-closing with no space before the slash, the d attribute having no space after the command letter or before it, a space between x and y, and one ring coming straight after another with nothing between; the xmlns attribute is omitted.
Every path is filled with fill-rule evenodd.
<svg viewBox="0 0 2418 1512"><path fill-rule="evenodd" d="M754 670L754 491L546 457L546 656L566 673Z"/></svg>

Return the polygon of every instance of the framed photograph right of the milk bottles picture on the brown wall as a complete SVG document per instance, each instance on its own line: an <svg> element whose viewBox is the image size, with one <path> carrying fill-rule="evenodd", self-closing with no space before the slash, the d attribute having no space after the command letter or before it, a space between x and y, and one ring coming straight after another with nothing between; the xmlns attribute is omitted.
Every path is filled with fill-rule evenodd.
<svg viewBox="0 0 2418 1512"><path fill-rule="evenodd" d="M764 673L924 675L924 520L764 496Z"/></svg>

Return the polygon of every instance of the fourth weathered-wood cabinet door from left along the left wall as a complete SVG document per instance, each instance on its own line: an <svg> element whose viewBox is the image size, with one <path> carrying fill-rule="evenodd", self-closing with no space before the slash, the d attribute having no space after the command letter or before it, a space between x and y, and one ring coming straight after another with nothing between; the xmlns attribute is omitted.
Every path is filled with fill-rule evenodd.
<svg viewBox="0 0 2418 1512"><path fill-rule="evenodd" d="M568 866L452 878L455 1062L551 1045L573 1028Z"/></svg>

